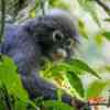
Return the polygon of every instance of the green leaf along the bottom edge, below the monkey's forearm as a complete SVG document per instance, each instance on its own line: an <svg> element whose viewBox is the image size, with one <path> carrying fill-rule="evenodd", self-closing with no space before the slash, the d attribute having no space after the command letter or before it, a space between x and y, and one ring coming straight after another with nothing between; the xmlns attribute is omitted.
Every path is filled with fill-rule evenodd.
<svg viewBox="0 0 110 110"><path fill-rule="evenodd" d="M48 108L47 110L75 110L74 107L70 107L66 103L63 103L62 101L44 101L44 106Z"/></svg>

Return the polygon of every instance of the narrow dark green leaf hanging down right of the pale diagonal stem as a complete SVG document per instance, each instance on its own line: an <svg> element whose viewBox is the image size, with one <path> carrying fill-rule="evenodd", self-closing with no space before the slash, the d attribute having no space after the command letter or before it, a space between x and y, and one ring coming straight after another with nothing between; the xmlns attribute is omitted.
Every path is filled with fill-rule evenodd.
<svg viewBox="0 0 110 110"><path fill-rule="evenodd" d="M82 87L82 82L80 78L75 73L72 73L72 72L68 72L66 76L68 78L70 86L82 98L85 96L84 95L85 91L84 91L84 87Z"/></svg>

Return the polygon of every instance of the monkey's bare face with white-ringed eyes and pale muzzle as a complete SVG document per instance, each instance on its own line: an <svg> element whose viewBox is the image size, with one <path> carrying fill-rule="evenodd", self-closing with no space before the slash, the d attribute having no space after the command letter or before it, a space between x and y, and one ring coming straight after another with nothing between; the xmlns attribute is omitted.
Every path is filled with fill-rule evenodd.
<svg viewBox="0 0 110 110"><path fill-rule="evenodd" d="M53 61L70 58L75 45L73 37L66 37L59 30L54 31L52 37L53 45L50 48L50 58Z"/></svg>

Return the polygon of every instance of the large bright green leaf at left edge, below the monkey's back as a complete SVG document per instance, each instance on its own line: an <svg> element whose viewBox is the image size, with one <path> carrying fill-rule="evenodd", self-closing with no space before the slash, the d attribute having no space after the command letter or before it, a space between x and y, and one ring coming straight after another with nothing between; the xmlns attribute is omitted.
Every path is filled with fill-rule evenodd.
<svg viewBox="0 0 110 110"><path fill-rule="evenodd" d="M28 99L20 75L16 73L16 66L10 57L4 55L2 55L2 61L0 62L0 82L6 85L9 94L15 95L23 100Z"/></svg>

